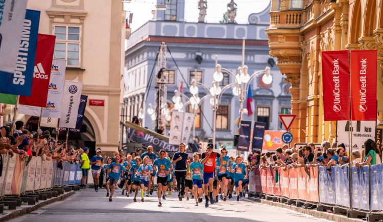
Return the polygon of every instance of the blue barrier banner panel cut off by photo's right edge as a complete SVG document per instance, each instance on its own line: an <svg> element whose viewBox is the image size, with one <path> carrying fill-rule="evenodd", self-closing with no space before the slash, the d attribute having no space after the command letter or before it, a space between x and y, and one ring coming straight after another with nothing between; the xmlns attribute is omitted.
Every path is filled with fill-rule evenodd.
<svg viewBox="0 0 383 222"><path fill-rule="evenodd" d="M371 166L371 210L383 209L383 164Z"/></svg>

